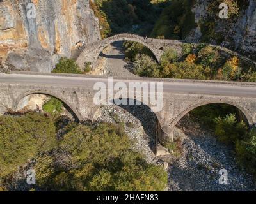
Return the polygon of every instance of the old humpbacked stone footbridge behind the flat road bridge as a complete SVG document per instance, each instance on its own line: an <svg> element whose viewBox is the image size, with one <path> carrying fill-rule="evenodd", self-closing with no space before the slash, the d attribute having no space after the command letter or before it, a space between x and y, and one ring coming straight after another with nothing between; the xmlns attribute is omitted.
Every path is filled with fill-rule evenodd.
<svg viewBox="0 0 256 204"><path fill-rule="evenodd" d="M90 45L86 45L83 52L77 57L76 62L79 67L84 68L85 62L90 62L92 67L95 66L95 62L100 55L100 52L104 48L108 47L111 43L116 41L134 41L145 45L151 52L155 55L157 62L160 62L161 55L163 54L166 47L172 47L177 51L177 53L182 52L182 41L179 40L165 40L165 39L155 39L155 38L146 38L141 37L136 34L116 34L104 40L97 41Z"/></svg>

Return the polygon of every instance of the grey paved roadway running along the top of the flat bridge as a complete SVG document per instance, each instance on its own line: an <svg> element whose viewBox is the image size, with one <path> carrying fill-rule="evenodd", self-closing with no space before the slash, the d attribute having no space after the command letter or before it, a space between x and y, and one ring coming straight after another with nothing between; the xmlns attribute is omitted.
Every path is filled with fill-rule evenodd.
<svg viewBox="0 0 256 204"><path fill-rule="evenodd" d="M150 82L150 78L115 79L114 82ZM108 83L108 78L104 77L69 77L51 75L24 75L24 74L0 74L1 84L31 84L31 85L54 85L61 87L92 87L96 82ZM154 82L157 82L154 80ZM160 80L159 80L160 82ZM170 80L163 82L163 92L173 92L179 94L214 94L221 96L241 96L256 98L256 85L241 84L216 84L211 82L195 82L193 80Z"/></svg>

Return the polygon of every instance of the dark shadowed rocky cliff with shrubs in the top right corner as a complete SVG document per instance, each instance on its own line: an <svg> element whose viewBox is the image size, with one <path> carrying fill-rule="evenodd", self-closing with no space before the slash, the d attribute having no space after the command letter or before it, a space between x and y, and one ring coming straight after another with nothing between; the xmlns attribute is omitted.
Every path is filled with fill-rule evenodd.
<svg viewBox="0 0 256 204"><path fill-rule="evenodd" d="M214 1L217 3L214 4ZM237 8L239 8L237 14L228 19L220 19L218 6L220 3L228 2L235 1L196 0L192 11L195 13L197 27L191 31L186 40L224 45L256 59L256 1L237 0Z"/></svg>

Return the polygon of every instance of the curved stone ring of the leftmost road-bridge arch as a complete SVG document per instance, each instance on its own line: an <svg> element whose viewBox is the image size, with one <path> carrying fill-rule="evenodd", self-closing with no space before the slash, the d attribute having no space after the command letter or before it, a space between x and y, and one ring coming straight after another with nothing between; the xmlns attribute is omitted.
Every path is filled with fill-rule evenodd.
<svg viewBox="0 0 256 204"><path fill-rule="evenodd" d="M32 92L26 92L24 94L20 94L20 96L15 100L15 110L17 111L19 109L20 103L22 101L22 99L26 98L27 96L33 95L33 94L42 94L42 95L46 95L46 96L52 96L58 100L60 100L64 107L68 110L68 112L71 113L71 115L74 117L74 119L79 122L81 121L81 115L79 112L77 112L76 108L72 108L72 105L70 105L70 103L68 103L63 97L61 96L56 96L56 94L52 94L49 92L45 92L45 91L32 91Z"/></svg>

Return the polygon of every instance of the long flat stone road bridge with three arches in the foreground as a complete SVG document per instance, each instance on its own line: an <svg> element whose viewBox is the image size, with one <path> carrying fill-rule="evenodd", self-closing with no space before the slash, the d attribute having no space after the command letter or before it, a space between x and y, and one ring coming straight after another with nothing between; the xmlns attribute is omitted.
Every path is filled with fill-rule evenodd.
<svg viewBox="0 0 256 204"><path fill-rule="evenodd" d="M98 92L93 88L96 82L108 84L108 78L38 73L0 74L0 113L8 108L19 110L31 94L46 94L63 101L77 120L95 120L100 108L100 105L93 103L93 97ZM256 124L256 84L154 78L115 78L116 82L125 82L127 86L136 82L163 82L163 108L154 112L159 124L158 140L161 143L173 139L173 130L184 115L196 107L211 103L235 106L250 126ZM136 89L134 98L140 92ZM143 97L136 99L144 102ZM154 109L151 103L148 106Z"/></svg>

